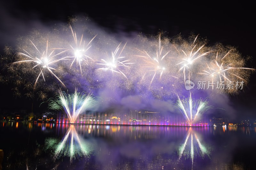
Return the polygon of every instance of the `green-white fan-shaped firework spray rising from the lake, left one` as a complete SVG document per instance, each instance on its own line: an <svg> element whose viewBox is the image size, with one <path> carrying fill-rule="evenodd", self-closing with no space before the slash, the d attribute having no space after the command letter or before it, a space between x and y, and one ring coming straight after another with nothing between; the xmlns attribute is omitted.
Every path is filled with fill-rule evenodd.
<svg viewBox="0 0 256 170"><path fill-rule="evenodd" d="M88 110L96 104L96 100L92 94L85 95L84 93L77 92L74 94L66 94L59 91L56 99L49 100L49 108L53 110L63 110L67 115L70 123L74 123L79 114Z"/></svg>

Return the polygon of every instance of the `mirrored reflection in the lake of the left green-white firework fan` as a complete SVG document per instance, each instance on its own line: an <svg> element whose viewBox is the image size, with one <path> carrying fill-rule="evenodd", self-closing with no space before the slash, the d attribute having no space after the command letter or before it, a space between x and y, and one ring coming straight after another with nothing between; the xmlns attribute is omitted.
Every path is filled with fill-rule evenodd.
<svg viewBox="0 0 256 170"><path fill-rule="evenodd" d="M69 157L70 162L72 162L73 159L88 155L92 151L92 144L77 134L74 125L70 125L60 142L56 138L47 138L45 149L53 151L54 159L64 156Z"/></svg>

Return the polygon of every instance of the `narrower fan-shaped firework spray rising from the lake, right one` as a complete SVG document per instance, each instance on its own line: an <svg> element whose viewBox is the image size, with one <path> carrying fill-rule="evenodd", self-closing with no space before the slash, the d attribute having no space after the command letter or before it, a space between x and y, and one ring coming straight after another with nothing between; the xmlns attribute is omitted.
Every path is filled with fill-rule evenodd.
<svg viewBox="0 0 256 170"><path fill-rule="evenodd" d="M189 126L193 126L196 117L200 114L203 114L208 109L211 109L211 106L207 106L208 102L200 98L199 100L193 100L191 97L191 92L189 93L189 97L186 99L180 99L177 95L176 107L177 109L184 115L186 121Z"/></svg>

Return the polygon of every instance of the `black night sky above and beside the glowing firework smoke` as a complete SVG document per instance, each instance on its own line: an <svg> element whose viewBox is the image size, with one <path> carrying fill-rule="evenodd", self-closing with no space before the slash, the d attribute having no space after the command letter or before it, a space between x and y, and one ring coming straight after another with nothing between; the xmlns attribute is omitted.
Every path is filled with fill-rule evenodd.
<svg viewBox="0 0 256 170"><path fill-rule="evenodd" d="M116 4L98 1L1 1L0 2L0 54L4 44L15 46L18 35L25 35L32 28L45 28L66 23L68 17L88 15L93 22L109 33L134 36L140 32L156 34L159 30L172 37L179 33L184 37L191 32L209 40L209 44L221 42L237 47L244 56L252 56L247 67L256 68L255 54L255 9L245 1L224 4L217 1L138 3L122 1ZM1 48L2 47L2 48ZM255 117L256 74L245 92L230 96L240 117ZM5 94L5 89L1 93ZM11 93L11 92L10 92ZM2 103L18 105L13 98L1 98ZM10 102L9 102L10 101ZM7 104L8 105L8 104ZM3 107L3 106L2 106Z"/></svg>

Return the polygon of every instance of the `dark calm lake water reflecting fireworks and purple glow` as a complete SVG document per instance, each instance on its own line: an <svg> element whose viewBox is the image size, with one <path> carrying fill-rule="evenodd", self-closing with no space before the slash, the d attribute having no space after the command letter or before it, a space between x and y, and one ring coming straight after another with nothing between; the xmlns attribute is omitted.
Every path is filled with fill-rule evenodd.
<svg viewBox="0 0 256 170"><path fill-rule="evenodd" d="M0 122L3 169L255 169L255 127Z"/></svg>

